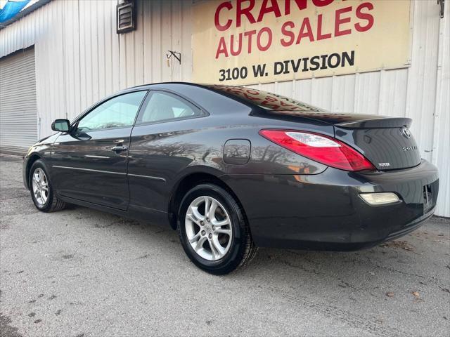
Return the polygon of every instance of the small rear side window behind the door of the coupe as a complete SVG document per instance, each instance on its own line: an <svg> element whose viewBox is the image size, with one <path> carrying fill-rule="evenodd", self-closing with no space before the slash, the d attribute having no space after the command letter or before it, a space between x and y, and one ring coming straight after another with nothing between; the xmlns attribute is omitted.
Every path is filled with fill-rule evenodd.
<svg viewBox="0 0 450 337"><path fill-rule="evenodd" d="M154 91L141 109L136 124L200 116L200 114L201 111L197 107L182 98L171 93Z"/></svg>

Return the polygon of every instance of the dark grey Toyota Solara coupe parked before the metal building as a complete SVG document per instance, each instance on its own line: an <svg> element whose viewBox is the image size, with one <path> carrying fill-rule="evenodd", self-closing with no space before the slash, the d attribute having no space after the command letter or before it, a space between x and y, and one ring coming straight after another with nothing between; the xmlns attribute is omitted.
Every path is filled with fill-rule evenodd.
<svg viewBox="0 0 450 337"><path fill-rule="evenodd" d="M23 179L40 211L70 203L167 224L220 275L258 246L348 251L422 225L439 180L410 124L252 88L151 84L54 121Z"/></svg>

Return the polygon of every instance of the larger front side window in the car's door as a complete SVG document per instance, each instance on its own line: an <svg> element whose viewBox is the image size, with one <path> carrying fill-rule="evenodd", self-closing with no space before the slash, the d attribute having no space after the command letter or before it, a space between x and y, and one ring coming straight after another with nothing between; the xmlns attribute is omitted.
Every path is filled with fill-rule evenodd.
<svg viewBox="0 0 450 337"><path fill-rule="evenodd" d="M133 125L139 105L146 93L147 91L135 91L107 100L79 120L77 131L86 132Z"/></svg>

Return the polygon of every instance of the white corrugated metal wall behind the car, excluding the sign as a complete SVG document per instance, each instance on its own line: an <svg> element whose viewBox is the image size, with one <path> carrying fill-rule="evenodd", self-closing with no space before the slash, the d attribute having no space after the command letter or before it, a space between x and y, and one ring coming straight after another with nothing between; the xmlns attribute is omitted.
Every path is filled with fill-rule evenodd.
<svg viewBox="0 0 450 337"><path fill-rule="evenodd" d="M0 57L35 45L41 135L51 133L53 119L72 119L120 88L189 81L191 2L138 0L137 29L122 35L115 32L117 0L54 0L1 29ZM439 167L437 214L450 216L450 6L444 19L435 0L411 7L411 67L257 87L335 112L411 117L422 156ZM167 67L167 50L181 52L181 66Z"/></svg>

